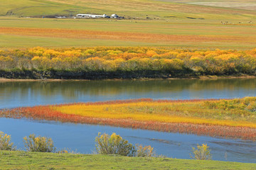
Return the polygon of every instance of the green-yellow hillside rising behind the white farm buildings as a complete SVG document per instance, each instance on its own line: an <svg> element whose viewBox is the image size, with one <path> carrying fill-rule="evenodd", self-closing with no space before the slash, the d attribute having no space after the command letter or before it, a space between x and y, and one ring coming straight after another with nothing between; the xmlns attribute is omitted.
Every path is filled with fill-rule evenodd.
<svg viewBox="0 0 256 170"><path fill-rule="evenodd" d="M181 1L183 2L183 1ZM255 18L256 11L211 7L168 0L2 0L1 16L75 16L118 13L126 18ZM241 2L242 3L242 2Z"/></svg>

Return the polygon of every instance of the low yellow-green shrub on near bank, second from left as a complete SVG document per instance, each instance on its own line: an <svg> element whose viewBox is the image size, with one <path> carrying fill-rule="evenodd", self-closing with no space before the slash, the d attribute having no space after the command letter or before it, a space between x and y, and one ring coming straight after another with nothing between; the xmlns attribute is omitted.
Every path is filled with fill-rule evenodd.
<svg viewBox="0 0 256 170"><path fill-rule="evenodd" d="M32 134L23 137L23 142L28 152L55 152L53 140L48 137L36 137Z"/></svg>

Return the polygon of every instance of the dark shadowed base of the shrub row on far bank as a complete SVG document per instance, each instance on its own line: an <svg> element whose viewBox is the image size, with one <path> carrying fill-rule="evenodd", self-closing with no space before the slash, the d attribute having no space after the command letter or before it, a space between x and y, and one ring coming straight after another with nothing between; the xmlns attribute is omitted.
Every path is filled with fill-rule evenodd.
<svg viewBox="0 0 256 170"><path fill-rule="evenodd" d="M18 70L18 71L0 71L0 77L3 79L168 79L168 78L198 78L196 74L183 74L166 71L142 70L142 71L39 71L39 70Z"/></svg>

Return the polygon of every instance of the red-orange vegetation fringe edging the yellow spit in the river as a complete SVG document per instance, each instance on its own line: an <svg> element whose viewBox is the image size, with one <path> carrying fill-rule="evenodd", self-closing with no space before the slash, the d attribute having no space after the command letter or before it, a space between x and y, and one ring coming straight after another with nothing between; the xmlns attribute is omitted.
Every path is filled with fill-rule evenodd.
<svg viewBox="0 0 256 170"><path fill-rule="evenodd" d="M153 102L151 99L136 99L127 101L105 101L95 103L85 103L86 105L132 103L139 101ZM206 100L188 100L206 101ZM207 100L209 101L209 100ZM213 101L213 100L212 100ZM215 101L215 100L214 100ZM165 100L157 102L166 102ZM170 102L170 101L169 101ZM173 101L174 103L184 102L183 100ZM70 104L69 104L70 105ZM60 105L63 106L63 105ZM243 140L256 140L256 129L245 127L230 127L221 125L196 125L191 123L159 123L152 121L136 121L129 119L110 119L110 118L90 118L81 115L63 114L53 111L50 106L35 106L26 108L15 108L1 111L1 117L6 118L28 118L33 120L54 120L62 123L87 123L93 125L111 125L122 128L134 128L144 130L156 130L162 132L179 132L195 135L208 135L212 137L240 138Z"/></svg>

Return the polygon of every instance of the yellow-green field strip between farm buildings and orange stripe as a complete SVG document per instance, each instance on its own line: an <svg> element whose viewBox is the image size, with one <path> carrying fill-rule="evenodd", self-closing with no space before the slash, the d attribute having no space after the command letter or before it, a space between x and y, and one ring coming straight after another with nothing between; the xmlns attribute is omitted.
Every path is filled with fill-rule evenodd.
<svg viewBox="0 0 256 170"><path fill-rule="evenodd" d="M16 18L0 17L0 27L15 28L56 28L70 30L100 30L122 33L156 33L166 35L241 35L255 33L255 23L250 20L228 20L224 25L222 18L213 20L170 19L169 21L130 21L112 19L54 19L54 18Z"/></svg>

